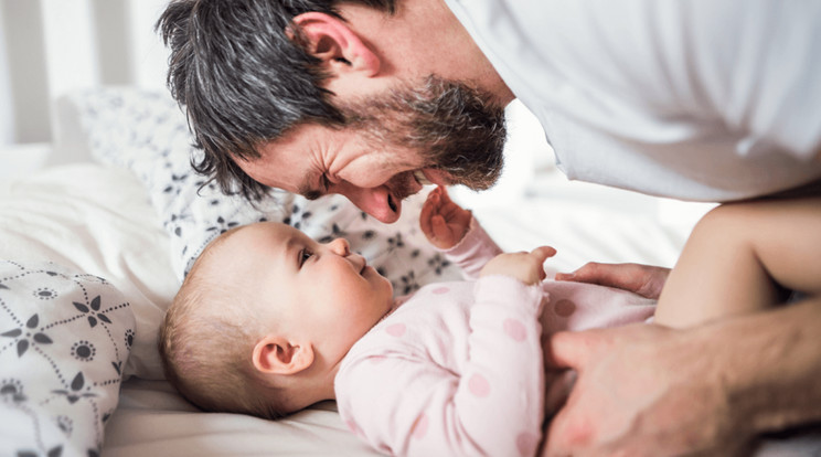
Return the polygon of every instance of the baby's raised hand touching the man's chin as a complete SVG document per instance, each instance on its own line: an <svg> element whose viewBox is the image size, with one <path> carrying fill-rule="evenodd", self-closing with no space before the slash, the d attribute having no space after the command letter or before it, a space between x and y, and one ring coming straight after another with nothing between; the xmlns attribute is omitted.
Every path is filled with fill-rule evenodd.
<svg viewBox="0 0 821 457"><path fill-rule="evenodd" d="M419 225L430 244L448 249L465 237L470 226L470 211L454 203L448 191L437 187L428 194L419 213Z"/></svg>

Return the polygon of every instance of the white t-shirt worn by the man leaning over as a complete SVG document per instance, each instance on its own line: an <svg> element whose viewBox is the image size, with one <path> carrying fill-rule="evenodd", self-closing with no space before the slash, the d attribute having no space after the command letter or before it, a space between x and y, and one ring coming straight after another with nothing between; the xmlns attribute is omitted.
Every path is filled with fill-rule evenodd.
<svg viewBox="0 0 821 457"><path fill-rule="evenodd" d="M446 2L569 179L728 201L821 177L821 1Z"/></svg>

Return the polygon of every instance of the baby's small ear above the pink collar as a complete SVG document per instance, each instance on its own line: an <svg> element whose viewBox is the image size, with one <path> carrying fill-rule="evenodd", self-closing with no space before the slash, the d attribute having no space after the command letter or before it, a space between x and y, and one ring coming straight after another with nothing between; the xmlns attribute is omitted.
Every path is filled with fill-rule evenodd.
<svg viewBox="0 0 821 457"><path fill-rule="evenodd" d="M252 357L263 373L297 374L313 363L313 347L269 334L257 341Z"/></svg>

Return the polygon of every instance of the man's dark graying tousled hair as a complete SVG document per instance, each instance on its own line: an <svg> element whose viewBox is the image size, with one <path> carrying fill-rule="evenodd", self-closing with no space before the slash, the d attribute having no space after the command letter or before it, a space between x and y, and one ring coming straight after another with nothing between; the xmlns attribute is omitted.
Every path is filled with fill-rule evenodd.
<svg viewBox="0 0 821 457"><path fill-rule="evenodd" d="M396 0L344 0L393 14ZM224 193L259 200L268 188L233 158L259 157L257 147L289 128L342 127L344 116L322 88L321 61L306 50L292 19L317 11L342 19L338 0L173 0L157 22L170 47L168 87L188 111L193 168Z"/></svg>

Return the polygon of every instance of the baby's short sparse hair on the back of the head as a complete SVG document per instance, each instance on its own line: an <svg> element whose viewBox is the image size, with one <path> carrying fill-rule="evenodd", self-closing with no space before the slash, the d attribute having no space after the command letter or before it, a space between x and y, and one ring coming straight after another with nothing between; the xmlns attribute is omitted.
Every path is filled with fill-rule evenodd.
<svg viewBox="0 0 821 457"><path fill-rule="evenodd" d="M180 394L204 411L276 419L290 413L287 392L253 365L254 346L265 332L253 294L201 272L236 230L203 251L169 307L159 337L162 366Z"/></svg>

